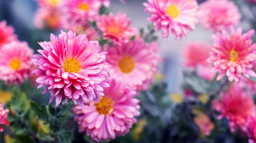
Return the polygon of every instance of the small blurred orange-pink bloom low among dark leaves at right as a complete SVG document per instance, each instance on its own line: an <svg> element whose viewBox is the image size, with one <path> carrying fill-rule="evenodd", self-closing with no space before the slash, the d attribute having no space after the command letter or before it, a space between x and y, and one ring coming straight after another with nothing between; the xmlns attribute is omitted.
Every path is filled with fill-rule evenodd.
<svg viewBox="0 0 256 143"><path fill-rule="evenodd" d="M211 130L213 130L214 124L206 114L202 112L198 113L197 116L194 118L194 121L195 124L199 127L202 134L207 136L211 134Z"/></svg>

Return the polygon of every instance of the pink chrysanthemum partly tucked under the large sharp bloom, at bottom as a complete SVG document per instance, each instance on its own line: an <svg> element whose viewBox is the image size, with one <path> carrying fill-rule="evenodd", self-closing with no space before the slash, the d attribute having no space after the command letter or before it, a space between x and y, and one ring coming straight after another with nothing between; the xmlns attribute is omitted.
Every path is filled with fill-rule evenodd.
<svg viewBox="0 0 256 143"><path fill-rule="evenodd" d="M73 108L79 132L86 132L96 141L109 141L116 135L125 135L137 122L135 116L139 115L139 100L134 98L136 92L115 80L110 80L109 84L99 103L85 102L85 109Z"/></svg>

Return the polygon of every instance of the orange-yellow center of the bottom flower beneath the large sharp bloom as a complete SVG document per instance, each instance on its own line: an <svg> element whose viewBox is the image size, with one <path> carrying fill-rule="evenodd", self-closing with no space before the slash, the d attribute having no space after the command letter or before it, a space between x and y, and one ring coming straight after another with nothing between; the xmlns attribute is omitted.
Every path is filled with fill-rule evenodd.
<svg viewBox="0 0 256 143"><path fill-rule="evenodd" d="M96 103L96 111L99 114L108 114L108 112L112 109L112 101L109 98L103 97L99 100L99 103Z"/></svg>

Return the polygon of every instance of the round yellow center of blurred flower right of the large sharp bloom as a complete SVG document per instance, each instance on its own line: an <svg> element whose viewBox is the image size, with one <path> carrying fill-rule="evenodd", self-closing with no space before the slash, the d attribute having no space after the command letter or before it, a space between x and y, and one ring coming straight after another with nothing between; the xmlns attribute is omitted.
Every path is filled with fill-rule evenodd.
<svg viewBox="0 0 256 143"><path fill-rule="evenodd" d="M135 67L135 62L132 60L129 56L124 56L121 58L121 60L118 62L118 67L123 73L130 73Z"/></svg>

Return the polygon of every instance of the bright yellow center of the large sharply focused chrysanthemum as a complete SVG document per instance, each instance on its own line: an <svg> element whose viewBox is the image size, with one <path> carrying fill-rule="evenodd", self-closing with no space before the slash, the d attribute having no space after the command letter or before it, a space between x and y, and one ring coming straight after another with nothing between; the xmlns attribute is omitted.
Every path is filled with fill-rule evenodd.
<svg viewBox="0 0 256 143"><path fill-rule="evenodd" d="M63 65L65 72L75 72L78 73L81 69L79 61L74 58L68 58L64 61Z"/></svg>

